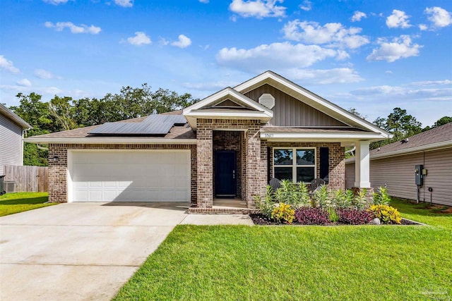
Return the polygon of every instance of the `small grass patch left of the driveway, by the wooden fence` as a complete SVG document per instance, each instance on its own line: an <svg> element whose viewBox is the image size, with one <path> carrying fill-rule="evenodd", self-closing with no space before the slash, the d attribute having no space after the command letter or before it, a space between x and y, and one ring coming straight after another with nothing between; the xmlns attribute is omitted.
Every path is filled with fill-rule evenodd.
<svg viewBox="0 0 452 301"><path fill-rule="evenodd" d="M15 192L0 196L0 216L51 206L47 192Z"/></svg>

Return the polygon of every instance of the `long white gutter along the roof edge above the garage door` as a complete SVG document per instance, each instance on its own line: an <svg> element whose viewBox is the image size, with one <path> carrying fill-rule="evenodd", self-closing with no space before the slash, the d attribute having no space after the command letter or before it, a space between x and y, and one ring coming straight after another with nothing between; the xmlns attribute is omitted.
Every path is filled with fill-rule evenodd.
<svg viewBox="0 0 452 301"><path fill-rule="evenodd" d="M23 141L36 144L88 144L88 145L196 145L196 139L146 139L146 138L25 138Z"/></svg>

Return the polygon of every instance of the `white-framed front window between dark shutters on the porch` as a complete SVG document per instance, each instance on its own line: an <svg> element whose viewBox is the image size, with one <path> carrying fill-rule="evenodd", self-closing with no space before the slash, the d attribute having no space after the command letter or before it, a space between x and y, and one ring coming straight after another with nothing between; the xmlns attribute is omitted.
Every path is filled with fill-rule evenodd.
<svg viewBox="0 0 452 301"><path fill-rule="evenodd" d="M316 178L316 149L274 148L273 177L294 183L311 182Z"/></svg>

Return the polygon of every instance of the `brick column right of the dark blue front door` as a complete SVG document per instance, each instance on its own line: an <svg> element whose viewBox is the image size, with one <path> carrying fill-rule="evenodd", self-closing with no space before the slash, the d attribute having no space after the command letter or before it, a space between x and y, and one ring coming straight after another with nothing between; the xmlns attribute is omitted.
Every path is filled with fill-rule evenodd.
<svg viewBox="0 0 452 301"><path fill-rule="evenodd" d="M246 206L254 208L254 197L263 195L266 173L261 160L260 126L250 125L246 131Z"/></svg>

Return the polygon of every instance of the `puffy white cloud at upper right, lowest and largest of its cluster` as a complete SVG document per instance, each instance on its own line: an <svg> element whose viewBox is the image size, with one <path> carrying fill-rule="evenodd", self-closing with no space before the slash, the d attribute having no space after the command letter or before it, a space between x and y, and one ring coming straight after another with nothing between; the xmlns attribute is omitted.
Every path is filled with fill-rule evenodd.
<svg viewBox="0 0 452 301"><path fill-rule="evenodd" d="M398 59L418 56L419 49L422 48L419 44L412 44L411 38L408 35L395 37L392 42L379 38L377 43L380 47L374 49L372 53L367 56L367 61L387 61L388 63L392 63Z"/></svg>

